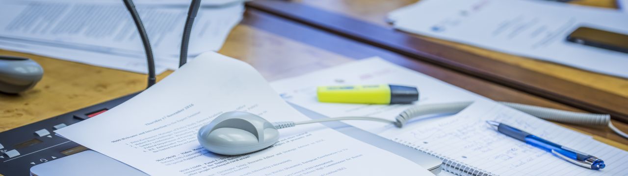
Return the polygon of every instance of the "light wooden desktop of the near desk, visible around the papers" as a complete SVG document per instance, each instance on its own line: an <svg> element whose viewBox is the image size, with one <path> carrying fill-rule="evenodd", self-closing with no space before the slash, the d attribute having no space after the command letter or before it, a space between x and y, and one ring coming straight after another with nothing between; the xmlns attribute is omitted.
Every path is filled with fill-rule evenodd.
<svg viewBox="0 0 628 176"><path fill-rule="evenodd" d="M494 100L528 103L564 110L577 110L538 96L464 75L440 66L340 38L330 33L291 23L270 14L248 9L242 24L230 34L220 53L251 63L269 81L301 75L369 56L381 56L453 85ZM33 54L0 51L0 54L26 56L38 61L46 73L41 82L20 95L0 94L0 131L111 100L140 91L146 75L54 60ZM159 75L163 78L171 71ZM628 140L607 128L566 127L592 134L598 140L628 150ZM627 130L628 125L617 123Z"/></svg>

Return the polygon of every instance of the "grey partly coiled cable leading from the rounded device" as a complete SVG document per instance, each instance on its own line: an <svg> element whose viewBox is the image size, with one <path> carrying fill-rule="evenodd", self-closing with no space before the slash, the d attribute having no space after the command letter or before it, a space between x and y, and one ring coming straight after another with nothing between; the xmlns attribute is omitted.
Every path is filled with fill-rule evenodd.
<svg viewBox="0 0 628 176"><path fill-rule="evenodd" d="M335 118L320 118L315 120L308 120L303 122L276 122L273 123L277 129L295 127L296 125L303 125L308 123L320 123L337 120L371 120L384 123L392 123L396 127L401 128L408 120L428 118L433 114L454 114L462 111L467 106L471 105L472 101L457 102L457 103L438 103L428 105L416 105L411 106L403 112L399 113L395 117L395 120L387 120L384 118L369 117L369 116L343 116ZM574 111L556 110L553 108L544 108L541 106L523 105L519 103L499 102L502 105L509 106L516 110L528 113L529 115L542 118L544 120L552 120L555 122L573 123L578 125L607 125L613 132L617 133L621 137L628 138L628 134L617 129L612 122L610 122L610 115L607 114L594 114L594 113L579 113Z"/></svg>

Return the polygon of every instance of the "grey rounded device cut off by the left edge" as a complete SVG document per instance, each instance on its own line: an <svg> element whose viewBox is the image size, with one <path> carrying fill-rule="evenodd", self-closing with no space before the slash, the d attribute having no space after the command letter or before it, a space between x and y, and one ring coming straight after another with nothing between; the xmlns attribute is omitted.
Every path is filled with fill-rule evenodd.
<svg viewBox="0 0 628 176"><path fill-rule="evenodd" d="M33 88L43 76L43 68L29 58L0 56L0 91L19 93Z"/></svg>

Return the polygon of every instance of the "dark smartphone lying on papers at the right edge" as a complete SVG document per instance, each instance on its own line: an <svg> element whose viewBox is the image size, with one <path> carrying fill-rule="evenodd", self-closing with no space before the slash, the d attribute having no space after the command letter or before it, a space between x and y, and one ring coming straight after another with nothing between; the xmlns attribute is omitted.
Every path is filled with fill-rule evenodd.
<svg viewBox="0 0 628 176"><path fill-rule="evenodd" d="M567 36L567 41L628 53L628 35L601 29L580 27Z"/></svg>

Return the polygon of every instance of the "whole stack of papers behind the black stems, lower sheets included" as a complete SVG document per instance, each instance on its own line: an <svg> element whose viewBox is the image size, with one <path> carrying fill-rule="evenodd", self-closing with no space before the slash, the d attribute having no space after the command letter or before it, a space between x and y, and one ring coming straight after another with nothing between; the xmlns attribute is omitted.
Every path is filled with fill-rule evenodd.
<svg viewBox="0 0 628 176"><path fill-rule="evenodd" d="M0 1L0 48L146 73L136 26L122 1ZM217 51L242 19L241 0L205 1L189 55ZM136 3L155 56L156 72L178 68L189 1Z"/></svg>

